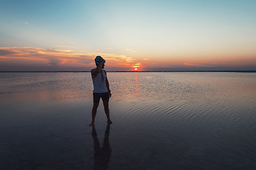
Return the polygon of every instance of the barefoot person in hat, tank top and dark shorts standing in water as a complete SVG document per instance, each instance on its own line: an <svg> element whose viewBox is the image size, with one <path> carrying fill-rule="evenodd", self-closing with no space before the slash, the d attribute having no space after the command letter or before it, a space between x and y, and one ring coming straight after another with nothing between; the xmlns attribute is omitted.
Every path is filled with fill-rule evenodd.
<svg viewBox="0 0 256 170"><path fill-rule="evenodd" d="M92 82L93 82L93 107L92 107L92 122L90 126L95 124L95 116L97 113L97 107L100 103L100 98L102 98L104 111L107 116L107 123L112 124L110 120L110 108L109 100L111 97L110 84L107 80L107 72L104 69L105 60L97 56L95 58L96 68L91 70Z"/></svg>

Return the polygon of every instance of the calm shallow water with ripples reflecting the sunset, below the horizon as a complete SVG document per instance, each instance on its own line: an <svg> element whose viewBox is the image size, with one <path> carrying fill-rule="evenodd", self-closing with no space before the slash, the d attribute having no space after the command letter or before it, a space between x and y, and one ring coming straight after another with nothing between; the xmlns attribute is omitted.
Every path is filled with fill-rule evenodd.
<svg viewBox="0 0 256 170"><path fill-rule="evenodd" d="M107 74L95 131L90 73L0 73L3 169L255 169L256 74ZM106 130L107 129L107 130Z"/></svg>

